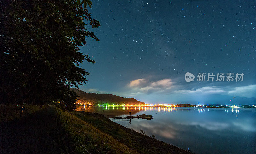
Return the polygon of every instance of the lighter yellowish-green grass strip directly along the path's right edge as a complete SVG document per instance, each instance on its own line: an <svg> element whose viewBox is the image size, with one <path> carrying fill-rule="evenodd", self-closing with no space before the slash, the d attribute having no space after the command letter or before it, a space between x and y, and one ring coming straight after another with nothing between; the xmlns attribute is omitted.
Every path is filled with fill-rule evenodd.
<svg viewBox="0 0 256 154"><path fill-rule="evenodd" d="M71 146L74 146L75 153L87 153L87 151L89 153L138 153L75 115L63 112L59 108L57 113L63 128L73 140L74 145ZM66 124L67 118L68 124Z"/></svg>

